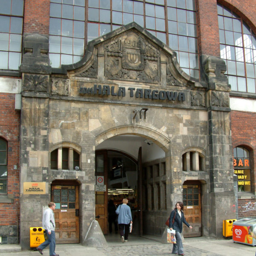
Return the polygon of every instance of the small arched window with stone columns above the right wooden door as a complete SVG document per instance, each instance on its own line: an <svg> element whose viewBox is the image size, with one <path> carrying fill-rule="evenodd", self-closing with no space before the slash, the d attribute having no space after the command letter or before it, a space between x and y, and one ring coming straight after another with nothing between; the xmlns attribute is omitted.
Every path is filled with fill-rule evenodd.
<svg viewBox="0 0 256 256"><path fill-rule="evenodd" d="M185 172L204 171L204 155L195 149L186 151L182 155L182 169Z"/></svg>

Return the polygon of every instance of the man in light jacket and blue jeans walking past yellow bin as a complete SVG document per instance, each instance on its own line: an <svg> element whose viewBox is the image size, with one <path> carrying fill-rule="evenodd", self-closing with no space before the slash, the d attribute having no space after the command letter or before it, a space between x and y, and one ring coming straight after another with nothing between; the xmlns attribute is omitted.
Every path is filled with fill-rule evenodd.
<svg viewBox="0 0 256 256"><path fill-rule="evenodd" d="M55 253L55 219L54 219L54 209L56 207L55 203L49 202L48 209L44 211L43 214L43 228L47 233L48 239L40 244L36 249L40 254L43 255L43 250L45 247L50 245L50 256L59 256Z"/></svg>

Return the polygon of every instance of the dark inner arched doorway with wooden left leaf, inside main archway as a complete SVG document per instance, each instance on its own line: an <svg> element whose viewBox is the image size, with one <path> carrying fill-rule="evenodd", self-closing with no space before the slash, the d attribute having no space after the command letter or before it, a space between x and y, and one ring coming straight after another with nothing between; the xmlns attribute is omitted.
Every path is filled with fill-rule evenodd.
<svg viewBox="0 0 256 256"><path fill-rule="evenodd" d="M95 214L104 234L111 232L108 223L108 202L116 207L129 199L132 213L138 209L137 160L116 150L96 151ZM104 190L104 191L102 191Z"/></svg>

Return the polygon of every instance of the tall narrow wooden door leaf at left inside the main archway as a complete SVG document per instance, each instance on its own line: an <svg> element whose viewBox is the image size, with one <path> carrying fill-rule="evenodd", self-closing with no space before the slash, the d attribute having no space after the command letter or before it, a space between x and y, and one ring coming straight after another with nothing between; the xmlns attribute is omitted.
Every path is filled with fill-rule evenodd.
<svg viewBox="0 0 256 256"><path fill-rule="evenodd" d="M108 234L108 156L107 151L96 152L96 185L103 177L104 191L95 191L95 218L99 222L103 234ZM97 186L95 187L97 190ZM98 188L98 190L101 190Z"/></svg>

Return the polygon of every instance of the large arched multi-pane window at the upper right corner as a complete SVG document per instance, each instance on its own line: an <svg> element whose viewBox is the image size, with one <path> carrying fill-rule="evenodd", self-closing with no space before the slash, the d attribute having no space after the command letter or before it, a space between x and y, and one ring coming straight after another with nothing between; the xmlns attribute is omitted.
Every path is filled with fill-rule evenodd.
<svg viewBox="0 0 256 256"><path fill-rule="evenodd" d="M221 58L227 65L231 90L256 93L256 37L233 11L218 4Z"/></svg>

